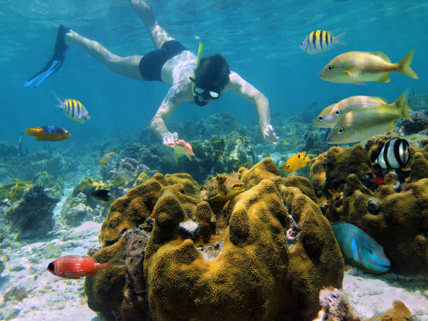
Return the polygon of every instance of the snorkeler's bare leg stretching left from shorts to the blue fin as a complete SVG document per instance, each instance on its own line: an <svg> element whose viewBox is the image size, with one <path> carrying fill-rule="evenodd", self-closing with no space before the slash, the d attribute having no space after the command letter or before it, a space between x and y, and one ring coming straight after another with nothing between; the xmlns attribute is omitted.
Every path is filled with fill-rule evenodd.
<svg viewBox="0 0 428 321"><path fill-rule="evenodd" d="M143 56L120 57L113 55L113 53L108 51L97 41L80 36L80 34L77 34L73 30L67 32L64 38L66 45L78 45L99 62L108 66L108 68L115 73L120 73L129 78L143 80L143 76L141 76L140 69L138 67Z"/></svg>

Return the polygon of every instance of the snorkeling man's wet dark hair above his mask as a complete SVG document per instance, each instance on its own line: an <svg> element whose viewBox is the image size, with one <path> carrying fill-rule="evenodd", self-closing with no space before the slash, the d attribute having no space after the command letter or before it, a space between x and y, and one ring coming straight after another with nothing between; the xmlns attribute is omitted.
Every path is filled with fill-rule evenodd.
<svg viewBox="0 0 428 321"><path fill-rule="evenodd" d="M222 90L229 83L229 73L227 60L222 55L215 54L201 59L194 76L198 87Z"/></svg>

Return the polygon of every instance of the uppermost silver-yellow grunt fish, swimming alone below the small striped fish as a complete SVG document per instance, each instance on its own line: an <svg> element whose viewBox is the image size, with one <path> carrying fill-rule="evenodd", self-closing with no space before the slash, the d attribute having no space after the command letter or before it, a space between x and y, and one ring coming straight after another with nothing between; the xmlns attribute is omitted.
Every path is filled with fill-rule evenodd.
<svg viewBox="0 0 428 321"><path fill-rule="evenodd" d="M324 66L318 74L323 80L331 83L364 85L364 81L379 81L389 83L390 73L399 72L418 79L411 69L415 50L412 49L406 57L392 64L390 58L383 52L350 51L335 57Z"/></svg>

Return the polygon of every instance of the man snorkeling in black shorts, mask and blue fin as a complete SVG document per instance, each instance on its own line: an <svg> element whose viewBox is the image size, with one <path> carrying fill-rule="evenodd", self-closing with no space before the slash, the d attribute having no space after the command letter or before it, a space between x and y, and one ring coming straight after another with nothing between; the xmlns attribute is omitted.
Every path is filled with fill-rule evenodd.
<svg viewBox="0 0 428 321"><path fill-rule="evenodd" d="M38 87L62 65L69 45L76 44L115 73L138 80L157 80L171 85L150 122L152 131L162 138L164 144L173 147L178 141L178 133L171 133L165 122L183 101L205 106L229 90L234 90L255 104L264 139L276 144L278 136L270 124L269 100L262 92L243 80L238 73L230 71L229 64L222 55L215 54L201 58L203 48L201 43L198 56L187 50L159 26L152 10L143 0L129 2L138 17L143 20L156 50L144 56L119 57L113 55L97 41L80 36L61 25L52 59L41 71L27 80L23 87Z"/></svg>

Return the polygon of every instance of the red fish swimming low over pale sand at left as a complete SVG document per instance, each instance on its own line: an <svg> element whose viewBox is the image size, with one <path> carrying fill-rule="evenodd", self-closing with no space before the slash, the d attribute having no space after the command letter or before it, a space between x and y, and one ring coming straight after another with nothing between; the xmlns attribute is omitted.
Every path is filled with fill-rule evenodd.
<svg viewBox="0 0 428 321"><path fill-rule="evenodd" d="M54 276L62 278L83 278L84 276L96 276L99 270L111 266L111 262L97 263L93 257L66 255L50 262L48 271Z"/></svg>

